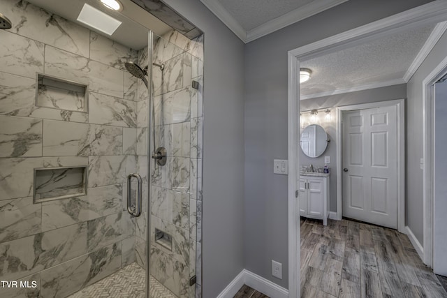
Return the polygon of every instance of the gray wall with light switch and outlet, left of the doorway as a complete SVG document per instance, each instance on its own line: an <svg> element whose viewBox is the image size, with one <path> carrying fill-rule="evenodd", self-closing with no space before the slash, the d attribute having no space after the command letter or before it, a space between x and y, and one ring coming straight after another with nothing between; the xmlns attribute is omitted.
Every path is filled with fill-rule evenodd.
<svg viewBox="0 0 447 298"><path fill-rule="evenodd" d="M273 159L287 158L287 51L427 2L346 1L245 46L246 269L288 287L287 177L273 174ZM282 263L282 280L271 260Z"/></svg>

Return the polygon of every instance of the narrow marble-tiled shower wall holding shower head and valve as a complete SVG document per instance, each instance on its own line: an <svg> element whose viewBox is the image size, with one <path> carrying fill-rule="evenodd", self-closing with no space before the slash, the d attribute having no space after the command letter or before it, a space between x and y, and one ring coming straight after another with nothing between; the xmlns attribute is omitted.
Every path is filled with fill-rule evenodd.
<svg viewBox="0 0 447 298"><path fill-rule="evenodd" d="M165 64L152 70L155 143L168 158L163 167L152 164L150 271L178 297L201 297L203 36L167 33L154 43L153 58ZM155 229L172 236L172 250L154 241Z"/></svg>

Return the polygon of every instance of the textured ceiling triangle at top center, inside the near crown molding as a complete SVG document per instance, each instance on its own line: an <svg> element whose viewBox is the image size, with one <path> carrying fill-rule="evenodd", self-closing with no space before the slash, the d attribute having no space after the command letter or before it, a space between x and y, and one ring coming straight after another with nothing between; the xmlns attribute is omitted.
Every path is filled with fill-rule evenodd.
<svg viewBox="0 0 447 298"><path fill-rule="evenodd" d="M319 0L219 0L246 31Z"/></svg>

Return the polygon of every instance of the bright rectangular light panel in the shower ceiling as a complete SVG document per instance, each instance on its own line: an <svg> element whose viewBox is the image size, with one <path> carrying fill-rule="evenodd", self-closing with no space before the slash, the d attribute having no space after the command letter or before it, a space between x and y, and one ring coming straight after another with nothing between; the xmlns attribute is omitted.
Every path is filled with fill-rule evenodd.
<svg viewBox="0 0 447 298"><path fill-rule="evenodd" d="M107 13L103 13L101 10L96 9L93 6L89 6L87 3L82 7L78 16L78 21L108 35L112 35L119 25L122 24L119 20L110 17Z"/></svg>

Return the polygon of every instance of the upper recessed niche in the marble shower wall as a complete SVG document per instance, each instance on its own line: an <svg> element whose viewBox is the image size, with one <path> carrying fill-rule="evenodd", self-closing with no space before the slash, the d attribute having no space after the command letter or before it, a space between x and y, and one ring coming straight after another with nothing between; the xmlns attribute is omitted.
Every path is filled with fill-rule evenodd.
<svg viewBox="0 0 447 298"><path fill-rule="evenodd" d="M71 80L36 74L36 106L58 110L88 112L88 85Z"/></svg>

